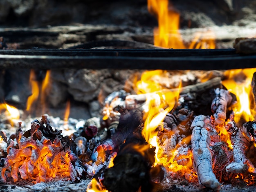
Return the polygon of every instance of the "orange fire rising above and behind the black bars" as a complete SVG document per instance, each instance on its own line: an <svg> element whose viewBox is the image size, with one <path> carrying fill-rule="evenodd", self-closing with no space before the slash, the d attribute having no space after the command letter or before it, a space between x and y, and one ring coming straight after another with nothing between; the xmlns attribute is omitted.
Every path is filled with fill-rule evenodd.
<svg viewBox="0 0 256 192"><path fill-rule="evenodd" d="M159 25L154 29L154 45L173 49L215 49L212 31L196 33L191 45L184 45L179 32L180 14L173 10L168 0L148 0L148 11L157 16Z"/></svg>

